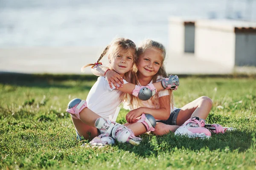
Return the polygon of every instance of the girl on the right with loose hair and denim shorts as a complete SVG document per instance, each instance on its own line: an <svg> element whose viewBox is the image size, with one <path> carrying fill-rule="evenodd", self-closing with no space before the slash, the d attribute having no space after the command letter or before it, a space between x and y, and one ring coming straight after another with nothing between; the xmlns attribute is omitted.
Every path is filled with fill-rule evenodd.
<svg viewBox="0 0 256 170"><path fill-rule="evenodd" d="M137 70L131 74L131 83L147 85L161 81L166 77L163 66L166 57L165 47L156 41L145 40L137 50ZM106 73L106 78L114 85L122 84L122 79L111 71ZM170 131L189 137L209 138L211 133L204 127L205 120L212 108L212 100L201 96L182 108L173 106L174 89L159 91L148 101L141 101L134 96L125 94L125 106L131 110L126 115L126 120L132 125L143 113L149 113L157 119L155 135L163 135ZM178 130L177 130L178 129Z"/></svg>

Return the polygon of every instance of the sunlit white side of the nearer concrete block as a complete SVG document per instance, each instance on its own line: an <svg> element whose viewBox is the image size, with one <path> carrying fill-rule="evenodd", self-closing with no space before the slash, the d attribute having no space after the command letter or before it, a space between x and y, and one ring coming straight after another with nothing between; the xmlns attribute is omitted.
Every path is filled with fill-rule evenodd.
<svg viewBox="0 0 256 170"><path fill-rule="evenodd" d="M233 67L235 64L235 33L196 26L195 56Z"/></svg>

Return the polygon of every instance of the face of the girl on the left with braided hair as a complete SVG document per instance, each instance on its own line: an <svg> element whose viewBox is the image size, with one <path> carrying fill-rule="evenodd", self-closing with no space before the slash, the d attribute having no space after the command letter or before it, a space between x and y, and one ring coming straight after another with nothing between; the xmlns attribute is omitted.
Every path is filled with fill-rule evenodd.
<svg viewBox="0 0 256 170"><path fill-rule="evenodd" d="M111 59L111 67L121 77L131 70L134 62L134 50L120 49Z"/></svg>

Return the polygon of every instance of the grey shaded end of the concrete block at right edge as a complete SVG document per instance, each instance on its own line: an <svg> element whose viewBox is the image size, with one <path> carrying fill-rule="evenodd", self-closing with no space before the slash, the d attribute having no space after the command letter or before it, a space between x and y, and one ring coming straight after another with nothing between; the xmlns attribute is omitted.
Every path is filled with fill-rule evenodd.
<svg viewBox="0 0 256 170"><path fill-rule="evenodd" d="M256 66L256 34L236 33L235 64Z"/></svg>

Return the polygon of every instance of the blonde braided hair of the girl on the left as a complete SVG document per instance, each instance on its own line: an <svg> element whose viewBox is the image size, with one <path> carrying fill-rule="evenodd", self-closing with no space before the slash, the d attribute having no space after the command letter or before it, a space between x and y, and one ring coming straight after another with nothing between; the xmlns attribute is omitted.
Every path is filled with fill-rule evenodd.
<svg viewBox="0 0 256 170"><path fill-rule="evenodd" d="M87 64L84 65L81 68L81 71L84 70L84 68L88 67L88 66L95 66L97 64L100 63L100 60L102 59L102 57L104 57L106 54L108 55L108 59L110 60L110 62L116 58L117 55L119 55L119 51L120 50L131 50L132 54L133 54L133 66L131 68L130 71L128 71L127 73L125 73L124 75L124 79L127 79L129 77L129 74L131 71L134 71L134 69L136 68L134 63L137 62L137 48L135 43L132 40L126 39L126 38L116 38L115 40L113 40L102 52L102 54L100 55L99 59L97 60L96 63L94 64ZM113 70L113 68L110 68L111 70Z"/></svg>

